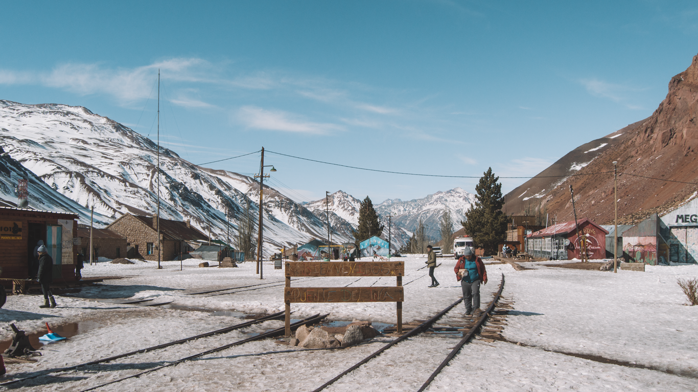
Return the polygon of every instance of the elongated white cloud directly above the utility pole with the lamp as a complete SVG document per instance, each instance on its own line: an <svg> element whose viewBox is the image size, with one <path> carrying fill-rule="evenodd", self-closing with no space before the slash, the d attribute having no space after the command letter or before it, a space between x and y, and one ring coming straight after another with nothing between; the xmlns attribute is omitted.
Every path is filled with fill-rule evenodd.
<svg viewBox="0 0 698 392"><path fill-rule="evenodd" d="M341 127L335 124L303 121L288 112L265 110L256 106L241 107L237 111L237 118L248 128L262 130L280 130L313 135L325 135L332 131L341 130Z"/></svg>

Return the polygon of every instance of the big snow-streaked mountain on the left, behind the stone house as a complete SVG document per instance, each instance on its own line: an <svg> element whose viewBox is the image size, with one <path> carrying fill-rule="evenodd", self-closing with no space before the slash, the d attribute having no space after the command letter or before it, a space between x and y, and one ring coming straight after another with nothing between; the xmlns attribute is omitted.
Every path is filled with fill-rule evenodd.
<svg viewBox="0 0 698 392"><path fill-rule="evenodd" d="M107 217L107 222L100 221L102 225L127 212L151 215L157 210L157 145L84 107L0 100L0 144L24 168L81 206L80 211L94 205L96 213ZM162 146L159 171L163 218L191 219L202 232L209 232L210 227L214 238L225 240L226 212L233 236L249 202L256 222L259 206L254 200L259 183L248 176L192 165ZM15 197L11 183L0 190L8 199ZM41 187L30 183L29 193L36 195ZM43 207L30 206L77 208L44 202ZM324 238L322 220L267 186L264 204L265 252ZM80 218L81 223L89 223L89 213L87 221L83 213ZM349 238L337 238L340 240Z"/></svg>

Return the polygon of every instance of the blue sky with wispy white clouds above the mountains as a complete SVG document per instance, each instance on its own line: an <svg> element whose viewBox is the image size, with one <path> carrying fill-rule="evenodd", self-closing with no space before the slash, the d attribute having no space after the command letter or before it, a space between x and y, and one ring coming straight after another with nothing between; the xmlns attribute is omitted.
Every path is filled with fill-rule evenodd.
<svg viewBox="0 0 698 392"><path fill-rule="evenodd" d="M264 146L533 176L651 115L698 54L695 1L16 1L3 15L0 99L84 106L154 139L160 68L161 142L192 163ZM273 153L265 164L298 201L477 183ZM209 167L253 174L259 156Z"/></svg>

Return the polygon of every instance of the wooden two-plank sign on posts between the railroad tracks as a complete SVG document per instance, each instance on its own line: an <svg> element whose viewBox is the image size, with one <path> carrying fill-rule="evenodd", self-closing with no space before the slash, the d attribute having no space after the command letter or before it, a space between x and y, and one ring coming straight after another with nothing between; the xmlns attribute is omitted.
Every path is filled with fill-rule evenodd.
<svg viewBox="0 0 698 392"><path fill-rule="evenodd" d="M403 262L286 262L286 336L291 335L291 303L396 302L397 331L402 333ZM292 277L394 276L394 287L291 287Z"/></svg>

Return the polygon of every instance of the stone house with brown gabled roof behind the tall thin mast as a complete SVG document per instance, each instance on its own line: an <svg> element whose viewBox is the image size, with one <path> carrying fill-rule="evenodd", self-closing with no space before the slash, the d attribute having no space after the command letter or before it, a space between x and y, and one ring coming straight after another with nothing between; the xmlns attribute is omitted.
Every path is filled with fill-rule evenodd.
<svg viewBox="0 0 698 392"><path fill-rule="evenodd" d="M209 241L209 237L193 227L189 220L181 222L160 218L161 260L173 260L193 250L189 243ZM126 237L128 257L158 259L158 219L156 216L139 216L126 213L107 226ZM123 257L123 256L122 256Z"/></svg>

